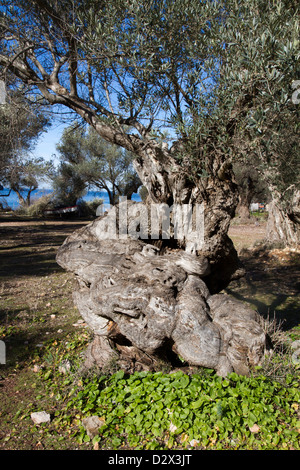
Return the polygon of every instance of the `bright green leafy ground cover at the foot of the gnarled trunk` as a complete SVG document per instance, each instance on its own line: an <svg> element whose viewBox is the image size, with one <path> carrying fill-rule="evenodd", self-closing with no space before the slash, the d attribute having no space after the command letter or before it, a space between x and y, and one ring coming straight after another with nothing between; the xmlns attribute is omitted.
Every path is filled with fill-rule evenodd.
<svg viewBox="0 0 300 470"><path fill-rule="evenodd" d="M89 374L72 384L70 378L55 381L52 368L42 377L60 400L64 395L55 417L60 425L77 418L73 436L79 444L150 450L300 448L299 380L292 374L278 382L264 375L222 378L202 369L131 375L120 370ZM61 383L69 385L67 394ZM103 422L93 439L81 424L87 416Z"/></svg>

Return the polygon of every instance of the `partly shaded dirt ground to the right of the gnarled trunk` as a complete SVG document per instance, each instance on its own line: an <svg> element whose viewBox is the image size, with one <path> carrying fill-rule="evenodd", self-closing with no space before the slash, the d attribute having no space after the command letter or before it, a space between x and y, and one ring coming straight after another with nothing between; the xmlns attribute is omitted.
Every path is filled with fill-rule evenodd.
<svg viewBox="0 0 300 470"><path fill-rule="evenodd" d="M266 222L233 223L229 230L245 277L232 282L228 294L249 303L264 317L289 331L300 324L300 251L267 249Z"/></svg>

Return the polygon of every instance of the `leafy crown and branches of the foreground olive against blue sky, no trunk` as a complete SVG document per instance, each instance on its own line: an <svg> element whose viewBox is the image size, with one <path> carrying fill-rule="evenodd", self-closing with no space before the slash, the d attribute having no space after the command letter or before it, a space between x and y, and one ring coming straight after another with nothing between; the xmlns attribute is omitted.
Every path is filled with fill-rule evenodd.
<svg viewBox="0 0 300 470"><path fill-rule="evenodd" d="M259 131L291 102L297 13L290 0L1 0L0 63L129 150L171 126L202 135L203 153L215 122Z"/></svg>

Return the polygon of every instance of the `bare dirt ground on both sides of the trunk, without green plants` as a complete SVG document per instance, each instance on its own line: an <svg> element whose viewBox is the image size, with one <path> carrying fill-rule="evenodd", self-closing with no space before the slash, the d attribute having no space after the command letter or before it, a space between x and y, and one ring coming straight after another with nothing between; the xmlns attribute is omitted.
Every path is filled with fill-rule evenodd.
<svg viewBox="0 0 300 470"><path fill-rule="evenodd" d="M30 418L15 418L35 400L33 351L50 339L67 340L74 330L88 336L72 301L74 278L55 261L65 238L87 223L0 217L0 340L7 347L7 363L0 365L0 449L40 448ZM233 223L229 235L246 275L226 292L300 339L300 253L260 246L265 222Z"/></svg>

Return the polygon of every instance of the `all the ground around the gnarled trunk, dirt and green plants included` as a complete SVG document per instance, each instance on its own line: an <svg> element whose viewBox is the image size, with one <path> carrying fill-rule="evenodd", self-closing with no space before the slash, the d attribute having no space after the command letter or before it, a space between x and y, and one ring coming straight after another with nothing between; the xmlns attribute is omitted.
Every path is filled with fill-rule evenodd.
<svg viewBox="0 0 300 470"><path fill-rule="evenodd" d="M105 376L99 373L86 376L81 372L83 353L91 333L73 305L73 276L56 264L55 254L66 236L86 223L0 219L0 340L5 342L7 361L0 365L0 449L298 448L299 369L290 363L288 345L300 339L299 253L259 246L264 238L264 221L245 225L233 223L230 229L247 274L230 284L227 293L248 302L262 317L276 318L280 323L280 330L275 329L283 353L256 372L263 374L263 379L249 378L256 380L256 389L265 397L268 394L279 397L277 405L266 402L266 410L259 412L259 395L256 400L253 394L252 401L248 395L243 396L245 390L254 387L254 382L244 378L232 377L227 383L220 381L212 371L201 370L191 370L189 374L178 372L172 374L172 378L159 371L153 376L137 374L131 378L115 370L107 371ZM113 372L117 374L111 375ZM265 378L270 380L269 388L266 388ZM280 384L279 388L274 380ZM146 382L148 388L144 389ZM208 384L210 392L206 389ZM132 407L128 396L124 395L124 387L131 395L132 390L135 391L133 395L140 408ZM199 439L200 431L193 426L200 420L197 413L202 405L197 408L195 403L200 403L197 390L201 387L203 396L215 396L203 409L210 410L210 419L219 424L206 423L207 429L199 424L198 431L202 429ZM152 395L149 390L153 390ZM161 395L155 390L160 390ZM173 406L177 413L172 429L164 421L168 415L159 399L161 396L164 401L164 394L169 390L175 400L170 399L169 409ZM237 395L238 390L240 395ZM152 396L151 403L146 395ZM128 402L127 407L119 408L115 416L116 407L112 409L109 404L122 400ZM242 402L248 403L252 411L233 413L233 408L236 406L238 410ZM157 403L156 408L153 403ZM236 404L232 404L229 412L224 403ZM137 409L140 411L135 414ZM147 409L145 421L143 410ZM41 410L51 415L51 422L35 425L30 414ZM165 428L151 422L151 413L154 417L161 414L160 421L165 422ZM239 434L235 430L245 421L241 421L243 413L246 413L250 431ZM265 415L265 424L259 421L259 413ZM94 439L87 436L81 425L83 417L90 414L101 415L105 423L102 435ZM200 423L205 421L205 416ZM233 416L240 420L235 427L228 421L230 416L232 420ZM274 416L277 416L276 422ZM267 429L262 432L264 426ZM142 441L141 436L144 436Z"/></svg>

